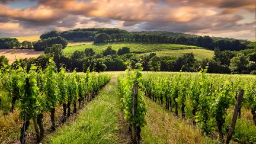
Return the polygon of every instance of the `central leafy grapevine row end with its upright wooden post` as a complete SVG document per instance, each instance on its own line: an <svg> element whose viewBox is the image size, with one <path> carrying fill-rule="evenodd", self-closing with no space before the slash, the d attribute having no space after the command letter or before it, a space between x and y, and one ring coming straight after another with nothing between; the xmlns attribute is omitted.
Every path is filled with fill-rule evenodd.
<svg viewBox="0 0 256 144"><path fill-rule="evenodd" d="M143 92L140 79L142 73L140 69L127 69L125 75L119 75L118 84L121 95L121 104L124 111L124 119L128 121L132 128L132 142L140 140L140 131L146 124L146 102L143 98Z"/></svg>

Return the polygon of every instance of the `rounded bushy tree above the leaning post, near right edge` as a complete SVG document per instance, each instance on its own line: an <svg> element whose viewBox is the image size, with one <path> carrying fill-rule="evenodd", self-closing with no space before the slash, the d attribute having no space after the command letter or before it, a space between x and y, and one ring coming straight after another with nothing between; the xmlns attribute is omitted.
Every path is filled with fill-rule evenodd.
<svg viewBox="0 0 256 144"><path fill-rule="evenodd" d="M231 59L230 68L234 73L245 73L249 59L245 57L244 54L238 53L235 57Z"/></svg>

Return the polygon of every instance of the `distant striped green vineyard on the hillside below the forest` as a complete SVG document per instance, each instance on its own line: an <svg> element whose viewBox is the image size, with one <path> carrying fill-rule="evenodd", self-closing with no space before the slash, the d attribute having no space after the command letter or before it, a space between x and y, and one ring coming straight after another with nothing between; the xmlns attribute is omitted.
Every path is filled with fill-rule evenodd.
<svg viewBox="0 0 256 144"><path fill-rule="evenodd" d="M71 56L76 50L84 51L87 48L92 48L95 52L100 53L107 49L108 46L112 46L114 50L119 50L122 47L129 47L131 52L155 52L161 50L178 50L178 49L203 49L197 46L187 46L181 44L164 44L164 43L136 43L136 42L120 42L120 43L99 43L99 44L84 44L79 46L68 46L63 51L66 56Z"/></svg>

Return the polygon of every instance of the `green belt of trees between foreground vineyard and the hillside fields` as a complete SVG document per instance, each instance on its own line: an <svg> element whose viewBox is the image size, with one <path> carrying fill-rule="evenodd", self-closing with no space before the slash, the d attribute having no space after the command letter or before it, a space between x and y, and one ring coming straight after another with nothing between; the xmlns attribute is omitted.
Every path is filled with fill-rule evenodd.
<svg viewBox="0 0 256 144"><path fill-rule="evenodd" d="M216 48L212 59L197 60L193 53L185 53L183 56L156 56L156 53L149 55L136 55L130 53L129 47L123 47L119 50L108 46L102 53L95 53L93 49L88 48L84 51L75 51L70 57L63 55L62 44L53 44L47 47L42 55L37 58L22 59L20 62L14 62L11 66L21 63L24 67L30 68L30 65L36 63L40 68L45 68L50 57L53 57L57 68L65 65L71 71L76 69L78 72L90 71L124 71L127 68L127 62L132 67L137 62L142 63L143 71L173 71L178 72L197 72L201 68L207 68L209 73L256 73L256 49L241 50L239 52ZM5 56L0 57L0 67L8 64Z"/></svg>

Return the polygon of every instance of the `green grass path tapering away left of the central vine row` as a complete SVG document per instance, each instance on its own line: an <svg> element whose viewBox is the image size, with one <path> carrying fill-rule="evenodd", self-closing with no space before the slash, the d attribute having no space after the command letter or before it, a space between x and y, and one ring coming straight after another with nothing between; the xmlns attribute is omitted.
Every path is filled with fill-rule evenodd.
<svg viewBox="0 0 256 144"><path fill-rule="evenodd" d="M81 110L77 119L56 130L44 143L129 143L117 93L117 76Z"/></svg>

